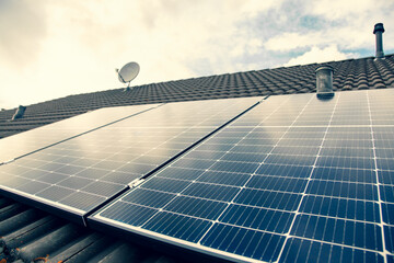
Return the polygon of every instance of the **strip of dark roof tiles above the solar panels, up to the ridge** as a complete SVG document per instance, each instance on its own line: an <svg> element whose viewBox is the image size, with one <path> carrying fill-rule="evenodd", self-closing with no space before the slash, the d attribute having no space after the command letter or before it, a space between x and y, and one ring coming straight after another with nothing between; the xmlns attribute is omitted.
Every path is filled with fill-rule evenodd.
<svg viewBox="0 0 394 263"><path fill-rule="evenodd" d="M334 89L364 90L394 87L394 55L327 62L334 68ZM24 117L10 122L15 108L0 112L0 138L54 123L88 111L158 102L278 95L315 91L315 69L322 65L281 67L228 73L124 89L70 95L26 108Z"/></svg>

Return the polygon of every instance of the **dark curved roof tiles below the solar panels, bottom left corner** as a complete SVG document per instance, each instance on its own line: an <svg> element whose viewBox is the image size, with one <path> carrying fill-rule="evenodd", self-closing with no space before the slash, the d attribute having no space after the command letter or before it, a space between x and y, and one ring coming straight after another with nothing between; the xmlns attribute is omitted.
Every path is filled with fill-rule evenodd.
<svg viewBox="0 0 394 263"><path fill-rule="evenodd" d="M179 262L3 197L0 197L0 233L1 263Z"/></svg>

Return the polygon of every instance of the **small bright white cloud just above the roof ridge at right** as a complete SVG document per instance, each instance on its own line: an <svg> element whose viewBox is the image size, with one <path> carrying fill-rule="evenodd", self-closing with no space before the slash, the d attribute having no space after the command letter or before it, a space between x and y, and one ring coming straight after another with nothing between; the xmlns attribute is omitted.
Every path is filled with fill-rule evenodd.
<svg viewBox="0 0 394 263"><path fill-rule="evenodd" d="M306 65L306 64L314 64L314 62L327 62L334 60L344 60L348 58L356 58L356 54L346 54L338 50L336 45L331 45L325 48L318 48L316 46L312 47L310 52L302 54L299 57L291 58L285 67L296 66L296 65Z"/></svg>

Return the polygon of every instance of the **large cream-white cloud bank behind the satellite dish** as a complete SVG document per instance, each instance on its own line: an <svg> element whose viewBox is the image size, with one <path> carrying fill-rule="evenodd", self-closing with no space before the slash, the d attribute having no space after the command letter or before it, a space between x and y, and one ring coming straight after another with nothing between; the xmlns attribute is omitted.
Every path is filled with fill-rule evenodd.
<svg viewBox="0 0 394 263"><path fill-rule="evenodd" d="M141 66L134 85L196 77L196 71L242 70L233 58L257 52L260 43L240 32L237 23L279 4L37 0L34 5L26 1L22 9L2 7L7 14L2 21L16 26L2 26L1 32L18 37L8 46L0 45L0 54L9 54L14 45L34 56L10 55L9 60L0 61L0 107L121 87L114 68L130 60ZM12 19L15 14L20 19L28 14L28 24ZM192 67L196 61L205 64L196 69ZM11 62L24 68L15 70Z"/></svg>

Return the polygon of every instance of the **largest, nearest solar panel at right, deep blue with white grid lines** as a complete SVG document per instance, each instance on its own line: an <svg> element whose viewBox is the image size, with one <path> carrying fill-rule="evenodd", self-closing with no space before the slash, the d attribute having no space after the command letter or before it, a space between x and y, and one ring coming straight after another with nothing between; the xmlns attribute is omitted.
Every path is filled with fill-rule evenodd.
<svg viewBox="0 0 394 263"><path fill-rule="evenodd" d="M268 98L90 222L232 261L390 262L393 95Z"/></svg>

